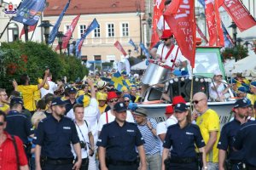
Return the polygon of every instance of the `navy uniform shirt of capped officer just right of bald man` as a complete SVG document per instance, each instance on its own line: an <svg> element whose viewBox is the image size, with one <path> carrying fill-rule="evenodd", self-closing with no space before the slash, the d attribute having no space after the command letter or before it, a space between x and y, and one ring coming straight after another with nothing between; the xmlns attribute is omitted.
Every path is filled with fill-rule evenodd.
<svg viewBox="0 0 256 170"><path fill-rule="evenodd" d="M241 128L241 122L237 121L236 118L233 121L226 123L224 127L222 127L221 129L221 134L220 134L220 138L217 145L217 148L219 150L229 151L228 158L232 161L243 160L244 151L233 150L235 136L240 128Z"/></svg>

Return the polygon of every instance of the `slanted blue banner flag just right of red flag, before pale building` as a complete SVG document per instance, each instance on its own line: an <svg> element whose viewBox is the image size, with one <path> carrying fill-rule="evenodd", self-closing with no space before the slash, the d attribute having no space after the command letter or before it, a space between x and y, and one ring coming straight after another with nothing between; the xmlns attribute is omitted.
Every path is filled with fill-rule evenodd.
<svg viewBox="0 0 256 170"><path fill-rule="evenodd" d="M92 20L92 22L90 23L90 26L88 26L88 28L84 31L83 36L79 40L77 40L77 42L76 42L76 56L79 57L79 55L80 55L81 48L82 48L82 45L84 43L85 37L87 37L88 34L90 34L91 31L94 31L98 26L100 26L100 25L97 22L97 20L96 19Z"/></svg>

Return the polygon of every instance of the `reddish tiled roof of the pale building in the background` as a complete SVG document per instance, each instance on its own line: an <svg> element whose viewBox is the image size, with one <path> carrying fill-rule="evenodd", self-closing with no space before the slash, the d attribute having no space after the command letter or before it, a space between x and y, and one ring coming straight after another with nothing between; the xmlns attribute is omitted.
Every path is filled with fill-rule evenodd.
<svg viewBox="0 0 256 170"><path fill-rule="evenodd" d="M67 0L47 0L49 6L45 8L45 16L61 14ZM145 11L144 0L71 0L66 14L116 14Z"/></svg>

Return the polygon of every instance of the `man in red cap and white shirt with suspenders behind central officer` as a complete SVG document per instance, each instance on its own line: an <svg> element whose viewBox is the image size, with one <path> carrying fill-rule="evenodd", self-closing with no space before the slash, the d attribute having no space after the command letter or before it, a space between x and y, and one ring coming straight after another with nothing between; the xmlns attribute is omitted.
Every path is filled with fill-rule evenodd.
<svg viewBox="0 0 256 170"><path fill-rule="evenodd" d="M118 95L111 91L108 92L108 105L111 108L109 111L102 113L100 120L98 122L98 132L100 133L102 131L102 127L104 124L107 124L109 122L113 122L115 119L114 113L113 113L113 105L119 102L119 97ZM127 122L134 122L134 118L131 115L131 111L126 111L127 112L127 117L126 121Z"/></svg>

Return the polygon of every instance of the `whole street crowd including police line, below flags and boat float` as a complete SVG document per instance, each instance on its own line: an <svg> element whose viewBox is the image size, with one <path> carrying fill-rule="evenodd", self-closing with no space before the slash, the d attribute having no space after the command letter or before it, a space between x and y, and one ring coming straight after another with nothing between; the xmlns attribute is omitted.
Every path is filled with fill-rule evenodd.
<svg viewBox="0 0 256 170"><path fill-rule="evenodd" d="M218 75L213 80L221 82ZM22 75L9 96L0 88L0 168L255 169L256 84L237 76L230 80L240 97L235 116L220 129L201 92L193 95L193 112L175 96L166 122L156 122L137 107L139 84L119 92L98 74L83 84L55 83L46 70L38 85ZM214 83L210 88L220 86Z"/></svg>

